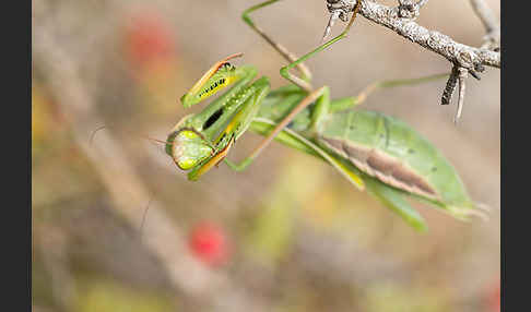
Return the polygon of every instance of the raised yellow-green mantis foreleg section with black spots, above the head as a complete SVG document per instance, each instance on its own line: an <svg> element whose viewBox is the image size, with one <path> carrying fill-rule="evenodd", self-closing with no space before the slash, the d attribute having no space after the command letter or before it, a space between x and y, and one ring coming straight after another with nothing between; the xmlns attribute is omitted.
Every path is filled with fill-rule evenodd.
<svg viewBox="0 0 531 312"><path fill-rule="evenodd" d="M235 67L228 63L228 60L241 56L243 53L232 55L212 65L180 98L182 105L186 108L191 107L237 81L238 72Z"/></svg>

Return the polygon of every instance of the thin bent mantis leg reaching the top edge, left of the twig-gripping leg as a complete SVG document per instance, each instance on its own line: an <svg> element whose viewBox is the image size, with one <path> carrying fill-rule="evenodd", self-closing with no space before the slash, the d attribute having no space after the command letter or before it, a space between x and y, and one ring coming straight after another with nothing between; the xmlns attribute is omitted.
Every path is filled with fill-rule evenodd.
<svg viewBox="0 0 531 312"><path fill-rule="evenodd" d="M262 38L266 39L266 41L268 41L268 44L270 44L282 57L284 57L284 59L286 59L288 62L295 62L297 60L297 57L295 55L293 55L292 52L290 52L284 46L282 46L281 44L276 43L275 40L273 40L268 34L266 34L266 32L260 27L258 26L249 16L250 13L252 13L253 11L257 11L259 9L262 9L263 7L268 7L270 4L273 4L274 2L278 2L280 0L269 0L269 1L264 1L264 2L261 2L261 3L258 3L247 10L244 11L244 13L241 14L241 19L244 20L244 22L249 25L251 27L252 31L255 31L256 33L258 33ZM308 69L308 67L306 67L306 64L304 64L303 62L299 62L296 64L297 67L297 70L300 72L300 74L303 75L303 81L305 82L308 82L311 80L311 72L310 70Z"/></svg>

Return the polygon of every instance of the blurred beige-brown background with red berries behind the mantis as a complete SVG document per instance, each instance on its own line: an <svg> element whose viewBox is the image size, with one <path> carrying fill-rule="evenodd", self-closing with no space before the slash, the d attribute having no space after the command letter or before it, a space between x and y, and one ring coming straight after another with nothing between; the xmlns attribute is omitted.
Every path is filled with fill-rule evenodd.
<svg viewBox="0 0 531 312"><path fill-rule="evenodd" d="M34 311L499 311L499 70L469 80L461 122L445 81L378 92L462 175L489 219L460 223L414 204L417 233L324 163L273 143L244 172L190 182L163 147L178 98L217 60L244 52L285 84L285 61L240 20L259 1L33 1ZM380 1L396 5L396 1ZM499 15L499 1L487 1ZM253 17L300 56L324 1L281 1ZM468 1L430 1L417 22L480 46ZM339 22L334 34L342 31ZM441 57L358 17L307 63L333 97L384 79L448 72ZM91 144L91 134L102 125ZM241 159L260 141L232 149ZM146 211L149 207L149 211Z"/></svg>

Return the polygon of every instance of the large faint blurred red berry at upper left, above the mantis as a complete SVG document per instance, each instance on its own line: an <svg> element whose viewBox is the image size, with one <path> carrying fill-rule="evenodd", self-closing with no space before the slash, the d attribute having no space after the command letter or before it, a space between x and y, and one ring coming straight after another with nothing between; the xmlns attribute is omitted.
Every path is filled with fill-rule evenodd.
<svg viewBox="0 0 531 312"><path fill-rule="evenodd" d="M126 31L126 51L137 67L150 67L166 62L175 53L172 28L162 16L141 13L131 17Z"/></svg>

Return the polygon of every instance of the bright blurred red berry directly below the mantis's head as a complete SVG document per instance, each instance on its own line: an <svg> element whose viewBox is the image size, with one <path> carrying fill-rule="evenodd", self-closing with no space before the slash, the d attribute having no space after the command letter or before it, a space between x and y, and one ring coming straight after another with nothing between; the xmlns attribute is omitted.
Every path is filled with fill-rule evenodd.
<svg viewBox="0 0 531 312"><path fill-rule="evenodd" d="M192 254L209 265L221 265L228 256L228 245L221 227L211 223L196 225L188 240Z"/></svg>

